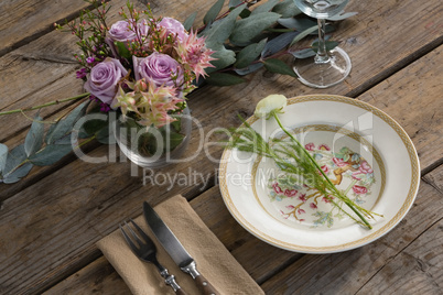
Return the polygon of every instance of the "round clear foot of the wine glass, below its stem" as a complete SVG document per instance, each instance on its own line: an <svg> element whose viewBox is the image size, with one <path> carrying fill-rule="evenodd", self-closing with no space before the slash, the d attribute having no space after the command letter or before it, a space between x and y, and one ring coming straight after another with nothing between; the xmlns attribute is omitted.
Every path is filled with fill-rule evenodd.
<svg viewBox="0 0 443 295"><path fill-rule="evenodd" d="M315 56L296 58L293 69L299 80L313 88L327 88L343 81L352 68L349 56L339 47L335 47L328 54L328 61L321 63L315 62Z"/></svg>

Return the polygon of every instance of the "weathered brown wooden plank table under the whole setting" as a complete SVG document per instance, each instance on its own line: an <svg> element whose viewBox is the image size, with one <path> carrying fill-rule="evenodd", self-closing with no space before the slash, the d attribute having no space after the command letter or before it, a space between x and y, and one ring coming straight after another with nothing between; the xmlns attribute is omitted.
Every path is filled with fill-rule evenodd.
<svg viewBox="0 0 443 295"><path fill-rule="evenodd" d="M111 0L114 9L126 0ZM147 1L139 0L142 7ZM152 0L156 15L184 20L213 1ZM76 18L82 0L0 3L0 109L17 109L82 94L72 57L75 39L53 31L52 23ZM356 250L336 254L300 254L267 244L249 234L229 215L216 184L218 164L205 153L160 173L201 173L209 177L188 186L143 185L131 165L91 164L75 155L34 168L20 183L0 185L0 294L127 294L120 276L95 243L128 217L175 194L195 211L267 294L442 294L443 293L443 6L440 0L352 0L358 14L341 23L335 40L353 61L350 76L317 90L289 76L263 70L234 87L204 86L190 95L193 116L204 131L237 127L237 113L251 116L269 94L294 97L335 94L371 103L407 131L421 162L417 200L387 236ZM111 18L110 21L115 21ZM66 105L41 112L51 120ZM0 118L0 141L12 148L26 134L21 114ZM197 130L194 134L197 136ZM196 143L192 143L191 153ZM116 149L86 146L89 156ZM219 159L223 149L209 146ZM117 150L118 151L118 150ZM133 175L134 171L132 171Z"/></svg>

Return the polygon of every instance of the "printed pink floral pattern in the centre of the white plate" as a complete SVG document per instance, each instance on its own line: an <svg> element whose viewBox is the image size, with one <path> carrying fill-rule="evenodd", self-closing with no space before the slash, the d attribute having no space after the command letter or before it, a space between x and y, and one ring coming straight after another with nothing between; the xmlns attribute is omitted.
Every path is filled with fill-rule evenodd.
<svg viewBox="0 0 443 295"><path fill-rule="evenodd" d="M332 183L352 198L363 205L371 196L371 185L376 182L374 170L360 154L343 146L338 153L324 143L305 144L323 172ZM306 179L298 179L289 174L271 177L268 183L271 201L281 203L281 218L309 223L314 228L334 226L336 219L345 218L345 214L332 204L341 200L327 198L309 186ZM344 208L344 207L343 207Z"/></svg>

